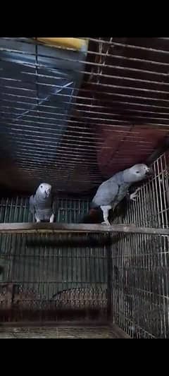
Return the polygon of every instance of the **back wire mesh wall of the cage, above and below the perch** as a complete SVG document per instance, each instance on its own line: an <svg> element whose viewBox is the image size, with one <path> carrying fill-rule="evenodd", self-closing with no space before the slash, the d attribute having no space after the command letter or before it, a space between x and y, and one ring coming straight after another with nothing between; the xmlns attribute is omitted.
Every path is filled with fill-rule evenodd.
<svg viewBox="0 0 169 376"><path fill-rule="evenodd" d="M87 200L58 200L57 222L78 222ZM32 220L28 199L1 199L1 222ZM107 320L106 237L1 234L1 320Z"/></svg>

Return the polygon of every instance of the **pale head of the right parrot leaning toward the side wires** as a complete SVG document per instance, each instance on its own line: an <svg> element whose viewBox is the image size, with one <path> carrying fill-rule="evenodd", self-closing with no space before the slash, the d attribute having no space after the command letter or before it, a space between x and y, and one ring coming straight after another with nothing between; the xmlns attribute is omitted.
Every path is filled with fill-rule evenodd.
<svg viewBox="0 0 169 376"><path fill-rule="evenodd" d="M127 181L130 183L136 183L142 181L144 178L151 176L152 171L146 164L135 164L128 169Z"/></svg>

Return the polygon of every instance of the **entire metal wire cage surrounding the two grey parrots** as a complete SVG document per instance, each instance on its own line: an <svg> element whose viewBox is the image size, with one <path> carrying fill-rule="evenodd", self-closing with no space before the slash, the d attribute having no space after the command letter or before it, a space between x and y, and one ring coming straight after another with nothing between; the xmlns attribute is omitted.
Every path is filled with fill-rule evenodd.
<svg viewBox="0 0 169 376"><path fill-rule="evenodd" d="M110 228L80 221L168 135L168 38L70 40L0 38L0 337L166 339L169 152ZM44 177L43 227L28 197Z"/></svg>

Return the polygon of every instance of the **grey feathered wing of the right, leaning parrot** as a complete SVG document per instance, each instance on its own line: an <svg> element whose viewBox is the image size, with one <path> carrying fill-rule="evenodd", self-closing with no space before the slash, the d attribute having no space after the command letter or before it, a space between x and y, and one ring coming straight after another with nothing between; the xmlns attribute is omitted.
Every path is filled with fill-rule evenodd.
<svg viewBox="0 0 169 376"><path fill-rule="evenodd" d="M110 205L118 195L119 186L115 181L105 181L98 188L92 203L98 206Z"/></svg>

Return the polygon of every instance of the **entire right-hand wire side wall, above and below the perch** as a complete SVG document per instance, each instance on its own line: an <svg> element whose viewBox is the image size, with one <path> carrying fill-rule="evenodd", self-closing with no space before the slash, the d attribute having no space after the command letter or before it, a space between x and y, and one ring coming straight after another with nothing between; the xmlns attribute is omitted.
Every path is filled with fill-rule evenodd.
<svg viewBox="0 0 169 376"><path fill-rule="evenodd" d="M153 164L154 177L116 223L168 228L168 153ZM113 314L134 338L168 338L169 236L112 236Z"/></svg>

